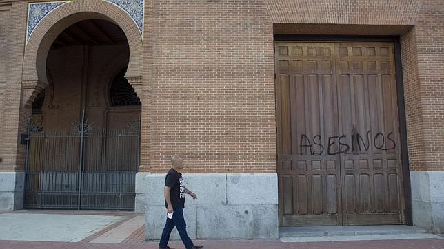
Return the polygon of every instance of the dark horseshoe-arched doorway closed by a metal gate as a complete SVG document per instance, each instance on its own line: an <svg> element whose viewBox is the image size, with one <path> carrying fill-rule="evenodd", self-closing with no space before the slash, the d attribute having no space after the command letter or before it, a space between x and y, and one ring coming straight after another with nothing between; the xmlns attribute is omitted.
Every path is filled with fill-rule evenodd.
<svg viewBox="0 0 444 249"><path fill-rule="evenodd" d="M141 101L125 78L127 36L81 19L55 37L32 101L25 208L133 210Z"/></svg>

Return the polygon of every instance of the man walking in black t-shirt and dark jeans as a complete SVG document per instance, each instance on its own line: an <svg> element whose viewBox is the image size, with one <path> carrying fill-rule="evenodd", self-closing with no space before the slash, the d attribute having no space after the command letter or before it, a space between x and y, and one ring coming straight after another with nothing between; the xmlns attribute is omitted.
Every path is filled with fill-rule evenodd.
<svg viewBox="0 0 444 249"><path fill-rule="evenodd" d="M186 230L185 219L183 218L183 208L185 208L185 193L193 199L197 199L197 195L185 188L183 176L180 171L183 169L183 158L179 155L173 155L171 158L171 169L165 177L165 187L163 195L165 195L165 207L167 208L167 221L163 228L159 249L172 249L168 246L171 231L176 226L182 242L187 249L199 249L203 246L194 246ZM172 215L172 216L171 216Z"/></svg>

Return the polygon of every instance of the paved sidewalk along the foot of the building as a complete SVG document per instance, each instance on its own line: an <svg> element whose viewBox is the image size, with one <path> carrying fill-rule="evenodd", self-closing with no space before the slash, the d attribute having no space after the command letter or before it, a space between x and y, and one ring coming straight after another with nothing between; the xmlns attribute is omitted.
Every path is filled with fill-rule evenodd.
<svg viewBox="0 0 444 249"><path fill-rule="evenodd" d="M20 215L23 215L20 214ZM52 249L52 248L146 248L157 249L158 241L143 241L144 229L142 227L134 226L132 232L128 230L128 226L121 226L125 224L117 223L128 218L128 215L110 215L112 219L108 219L105 215L68 215L63 219L62 224L57 221L60 219L51 219L48 216L36 215L27 213L28 216L18 217L17 223L14 226L10 226L8 223L2 221L10 220L14 221L17 216L2 216L0 215L0 239L6 236L14 236L13 240L0 240L0 248L32 248L32 249ZM83 218L91 217L91 219ZM47 221L42 222L42 218L46 218ZM60 217L58 217L60 218ZM8 224L8 226L4 226ZM30 224L33 226L30 226ZM54 226L50 226L50 225ZM128 222L126 222L128 224ZM56 228L57 229L54 229ZM125 229L122 229L125 228ZM341 228L343 229L341 231ZM114 230L113 230L114 229ZM317 229L317 230L316 230ZM403 229L403 228L401 228ZM407 228L406 228L407 229ZM113 232L118 234L125 233L126 239L121 239L120 243L91 243L94 238L101 235L111 235ZM310 228L307 230L307 234L310 232L319 232L320 228ZM374 228L374 232L377 232ZM390 227L382 228L381 230L390 231ZM303 231L303 230L302 230ZM196 240L196 245L203 245L205 249L290 249L290 248L325 248L325 249L361 249L361 248L421 248L421 249L444 249L444 238L438 235L431 235L425 233L410 233L409 234L397 234L397 235L357 235L349 236L350 233L359 233L362 228L354 227L334 227L331 229L330 236L308 236L308 237L286 237L281 240ZM370 233L372 229L369 229ZM332 236L341 234L341 232L347 236ZM364 231L365 232L365 231ZM57 241L30 241L30 239L59 239L62 242ZM379 240L370 240L370 239ZM359 241L356 241L359 239ZM63 242L66 241L66 242ZM69 242L68 242L69 241ZM182 249L183 244L181 241L172 241L170 246L176 249Z"/></svg>

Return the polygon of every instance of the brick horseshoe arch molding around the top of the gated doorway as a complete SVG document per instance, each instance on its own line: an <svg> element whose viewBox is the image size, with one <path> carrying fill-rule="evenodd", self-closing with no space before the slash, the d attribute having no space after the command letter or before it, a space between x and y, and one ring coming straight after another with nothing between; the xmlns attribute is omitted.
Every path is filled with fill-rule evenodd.
<svg viewBox="0 0 444 249"><path fill-rule="evenodd" d="M46 58L54 40L70 25L86 19L103 19L118 25L128 40L130 61L125 78L141 96L143 41L139 27L123 8L103 0L76 0L46 14L30 34L23 56L23 105L30 107L39 91L48 85Z"/></svg>

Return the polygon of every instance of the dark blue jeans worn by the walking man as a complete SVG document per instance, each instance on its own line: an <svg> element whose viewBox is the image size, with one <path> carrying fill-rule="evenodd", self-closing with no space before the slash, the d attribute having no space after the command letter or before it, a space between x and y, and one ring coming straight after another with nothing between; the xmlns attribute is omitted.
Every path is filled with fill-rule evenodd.
<svg viewBox="0 0 444 249"><path fill-rule="evenodd" d="M176 209L174 213L172 213L172 219L168 219L165 224L165 228L163 228L161 241L159 243L159 248L163 248L168 246L168 241L170 240L171 231L176 226L179 235L181 235L181 239L185 248L190 249L194 246L190 237L188 237L185 219L183 219L183 209Z"/></svg>

